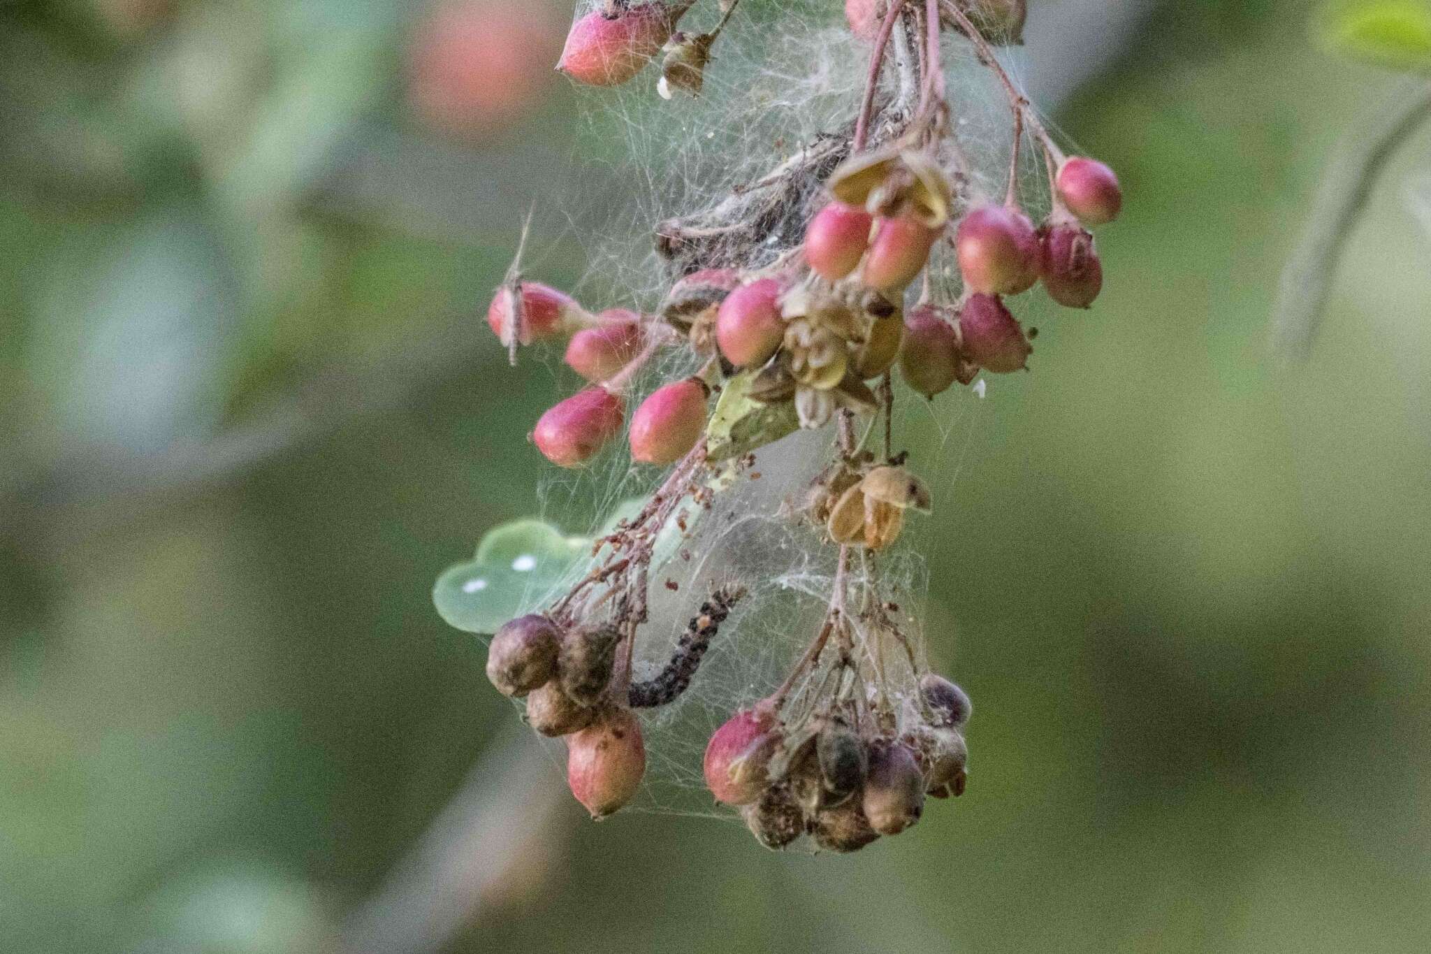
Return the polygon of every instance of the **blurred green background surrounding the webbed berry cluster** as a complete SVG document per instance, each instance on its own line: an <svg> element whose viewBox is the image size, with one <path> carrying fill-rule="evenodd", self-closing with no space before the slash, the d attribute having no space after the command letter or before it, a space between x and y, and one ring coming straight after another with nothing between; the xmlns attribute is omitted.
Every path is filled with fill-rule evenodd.
<svg viewBox="0 0 1431 954"><path fill-rule="evenodd" d="M479 319L575 136L570 10L518 6L0 3L0 948L379 950L438 844L451 951L1431 950L1431 134L1311 362L1264 349L1392 77L1305 1L1030 4L1030 63L1120 19L1058 120L1129 203L934 518L970 790L780 855L585 822L429 602L531 509L558 390ZM505 847L422 841L514 759Z"/></svg>

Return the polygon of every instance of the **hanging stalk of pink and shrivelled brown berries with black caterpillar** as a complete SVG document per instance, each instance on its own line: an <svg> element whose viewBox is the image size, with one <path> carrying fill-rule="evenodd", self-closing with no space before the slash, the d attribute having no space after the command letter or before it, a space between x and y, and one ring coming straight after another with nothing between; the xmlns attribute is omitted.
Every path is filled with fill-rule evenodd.
<svg viewBox="0 0 1431 954"><path fill-rule="evenodd" d="M580 83L614 86L660 57L663 96L698 94L738 6L717 1L713 29L683 33L694 3L605 0L577 19L558 67ZM750 451L794 426L836 425L830 465L790 488L798 501L788 511L831 548L837 571L813 642L783 685L711 737L704 775L713 797L738 807L768 847L809 834L821 848L851 851L914 824L926 797L964 791L969 698L929 672L879 578L877 556L897 542L906 515L932 508L907 455L892 446L896 386L932 399L980 373L1025 370L1033 348L1013 300L1042 285L1062 306L1089 308L1103 282L1089 229L1118 217L1122 193L1108 166L1059 150L999 66L992 46L1020 41L1023 0L849 0L846 11L870 50L859 113L807 162L783 163L764 180L780 187L784 177L800 199L760 227L737 220L727 233L746 229L744 246L703 245L693 237L700 230L663 223L658 247L673 280L651 313L592 313L521 276L488 309L514 356L564 342L565 363L587 382L537 421L531 436L542 455L578 468L624 436L633 461L668 468L641 512L598 542L591 572L541 614L502 626L491 646L494 685L525 697L538 732L565 737L571 790L594 817L640 788L645 754L634 711L684 691L741 596L738 586L711 592L665 671L633 682L655 536L673 521L684 529L685 508L708 506L718 492L707 479L711 402L737 389L763 436L726 466L748 465ZM1009 94L1013 154L999 196L980 192L957 140L940 66L946 33L962 34ZM1049 210L1037 225L1015 182L1026 136L1047 173ZM810 189L801 177L814 177ZM731 207L738 219L740 203ZM791 222L803 240L771 252L768 239ZM933 256L957 265L957 296L943 297L930 280ZM698 370L638 396L641 372L674 352ZM854 436L860 418L864 439ZM881 418L877 453L867 445ZM791 423L770 423L778 421ZM892 685L892 659L903 667L903 691Z"/></svg>

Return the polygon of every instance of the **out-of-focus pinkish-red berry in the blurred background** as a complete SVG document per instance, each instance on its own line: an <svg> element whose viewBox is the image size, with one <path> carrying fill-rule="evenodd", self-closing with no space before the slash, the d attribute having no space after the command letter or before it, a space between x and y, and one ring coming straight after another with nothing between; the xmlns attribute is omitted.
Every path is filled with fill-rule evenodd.
<svg viewBox="0 0 1431 954"><path fill-rule="evenodd" d="M409 99L431 124L461 136L495 133L542 96L542 66L561 43L547 4L445 0L408 51Z"/></svg>

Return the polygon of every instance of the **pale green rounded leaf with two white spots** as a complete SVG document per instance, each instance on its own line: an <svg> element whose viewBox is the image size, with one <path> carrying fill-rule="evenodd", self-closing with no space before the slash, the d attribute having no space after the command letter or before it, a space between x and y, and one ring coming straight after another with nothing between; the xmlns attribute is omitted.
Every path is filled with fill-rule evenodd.
<svg viewBox="0 0 1431 954"><path fill-rule="evenodd" d="M482 538L477 556L438 576L432 604L448 625L492 634L552 598L590 552L588 538L567 536L542 521L502 523Z"/></svg>

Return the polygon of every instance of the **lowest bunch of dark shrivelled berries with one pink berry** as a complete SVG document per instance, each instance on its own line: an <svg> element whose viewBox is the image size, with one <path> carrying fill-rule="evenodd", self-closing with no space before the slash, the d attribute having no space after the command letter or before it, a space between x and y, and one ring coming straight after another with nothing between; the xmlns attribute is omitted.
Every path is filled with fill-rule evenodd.
<svg viewBox="0 0 1431 954"><path fill-rule="evenodd" d="M705 748L705 785L740 808L767 848L804 834L829 851L857 851L897 835L924 811L924 797L960 795L972 707L957 685L934 674L919 684L917 715L903 731L860 725L853 708L826 707L783 721L774 697L736 712Z"/></svg>

